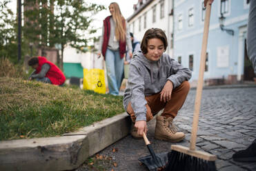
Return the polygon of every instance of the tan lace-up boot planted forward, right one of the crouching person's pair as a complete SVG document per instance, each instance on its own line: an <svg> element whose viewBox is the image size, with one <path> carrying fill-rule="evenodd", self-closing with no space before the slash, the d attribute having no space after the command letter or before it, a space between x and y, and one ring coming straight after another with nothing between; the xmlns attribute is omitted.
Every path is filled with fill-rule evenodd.
<svg viewBox="0 0 256 171"><path fill-rule="evenodd" d="M177 132L177 128L173 125L173 118L157 116L157 124L155 125L155 139L179 142L185 138L183 132Z"/></svg>

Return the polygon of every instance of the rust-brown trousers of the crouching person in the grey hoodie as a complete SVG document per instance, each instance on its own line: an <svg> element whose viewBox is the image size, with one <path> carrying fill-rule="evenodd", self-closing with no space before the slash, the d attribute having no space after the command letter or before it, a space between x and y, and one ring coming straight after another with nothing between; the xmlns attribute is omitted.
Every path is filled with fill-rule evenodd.
<svg viewBox="0 0 256 171"><path fill-rule="evenodd" d="M150 121L153 118L153 116L155 116L155 114L157 114L162 109L164 109L164 112L161 114L161 116L175 118L177 116L178 111L184 104L189 90L190 84L188 83L188 81L184 81L183 83L181 83L179 87L173 90L170 101L166 103L164 103L164 101L160 101L160 93L152 94L151 96L146 96L146 121ZM128 114L130 114L132 122L135 123L135 112L133 111L130 102L128 103L127 112Z"/></svg>

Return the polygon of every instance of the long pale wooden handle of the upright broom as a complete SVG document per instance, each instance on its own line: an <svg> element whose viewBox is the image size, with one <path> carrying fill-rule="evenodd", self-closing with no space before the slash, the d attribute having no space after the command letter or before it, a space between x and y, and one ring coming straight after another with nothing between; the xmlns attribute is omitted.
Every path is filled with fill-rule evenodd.
<svg viewBox="0 0 256 171"><path fill-rule="evenodd" d="M197 94L195 97L193 127L192 127L192 133L190 138L190 150L195 150L195 143L197 141L197 127L198 127L199 111L200 111L200 105L201 105L201 91L203 89L204 68L206 63L206 49L207 49L207 40L208 40L208 32L209 32L209 24L210 24L210 8L211 8L211 5L207 3L206 17L204 19L203 42L201 44L201 59L200 59L199 77L197 81Z"/></svg>

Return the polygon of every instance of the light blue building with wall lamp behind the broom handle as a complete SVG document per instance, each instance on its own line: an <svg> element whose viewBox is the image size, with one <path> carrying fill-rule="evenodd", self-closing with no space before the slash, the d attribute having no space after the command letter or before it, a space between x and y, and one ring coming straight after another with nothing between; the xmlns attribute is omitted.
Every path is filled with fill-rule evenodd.
<svg viewBox="0 0 256 171"><path fill-rule="evenodd" d="M248 0L213 2L204 73L207 84L253 80L246 54L249 6ZM174 0L174 57L193 71L192 83L199 74L204 17L203 0Z"/></svg>

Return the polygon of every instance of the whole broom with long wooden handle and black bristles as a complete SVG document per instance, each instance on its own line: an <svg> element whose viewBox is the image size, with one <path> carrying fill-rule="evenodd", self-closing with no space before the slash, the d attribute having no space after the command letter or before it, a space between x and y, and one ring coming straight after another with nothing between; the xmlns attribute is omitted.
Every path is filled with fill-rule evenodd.
<svg viewBox="0 0 256 171"><path fill-rule="evenodd" d="M199 78L197 82L197 93L195 97L193 128L190 138L190 148L186 148L181 145L171 145L172 152L170 152L168 156L170 163L166 165L166 170L216 170L215 160L217 159L217 157L215 155L195 150L195 143L197 139L197 125L201 103L201 91L203 88L204 80L204 63L206 61L206 48L210 23L210 8L211 6L209 5L209 3L207 3L206 18L204 21L203 42L201 46Z"/></svg>

